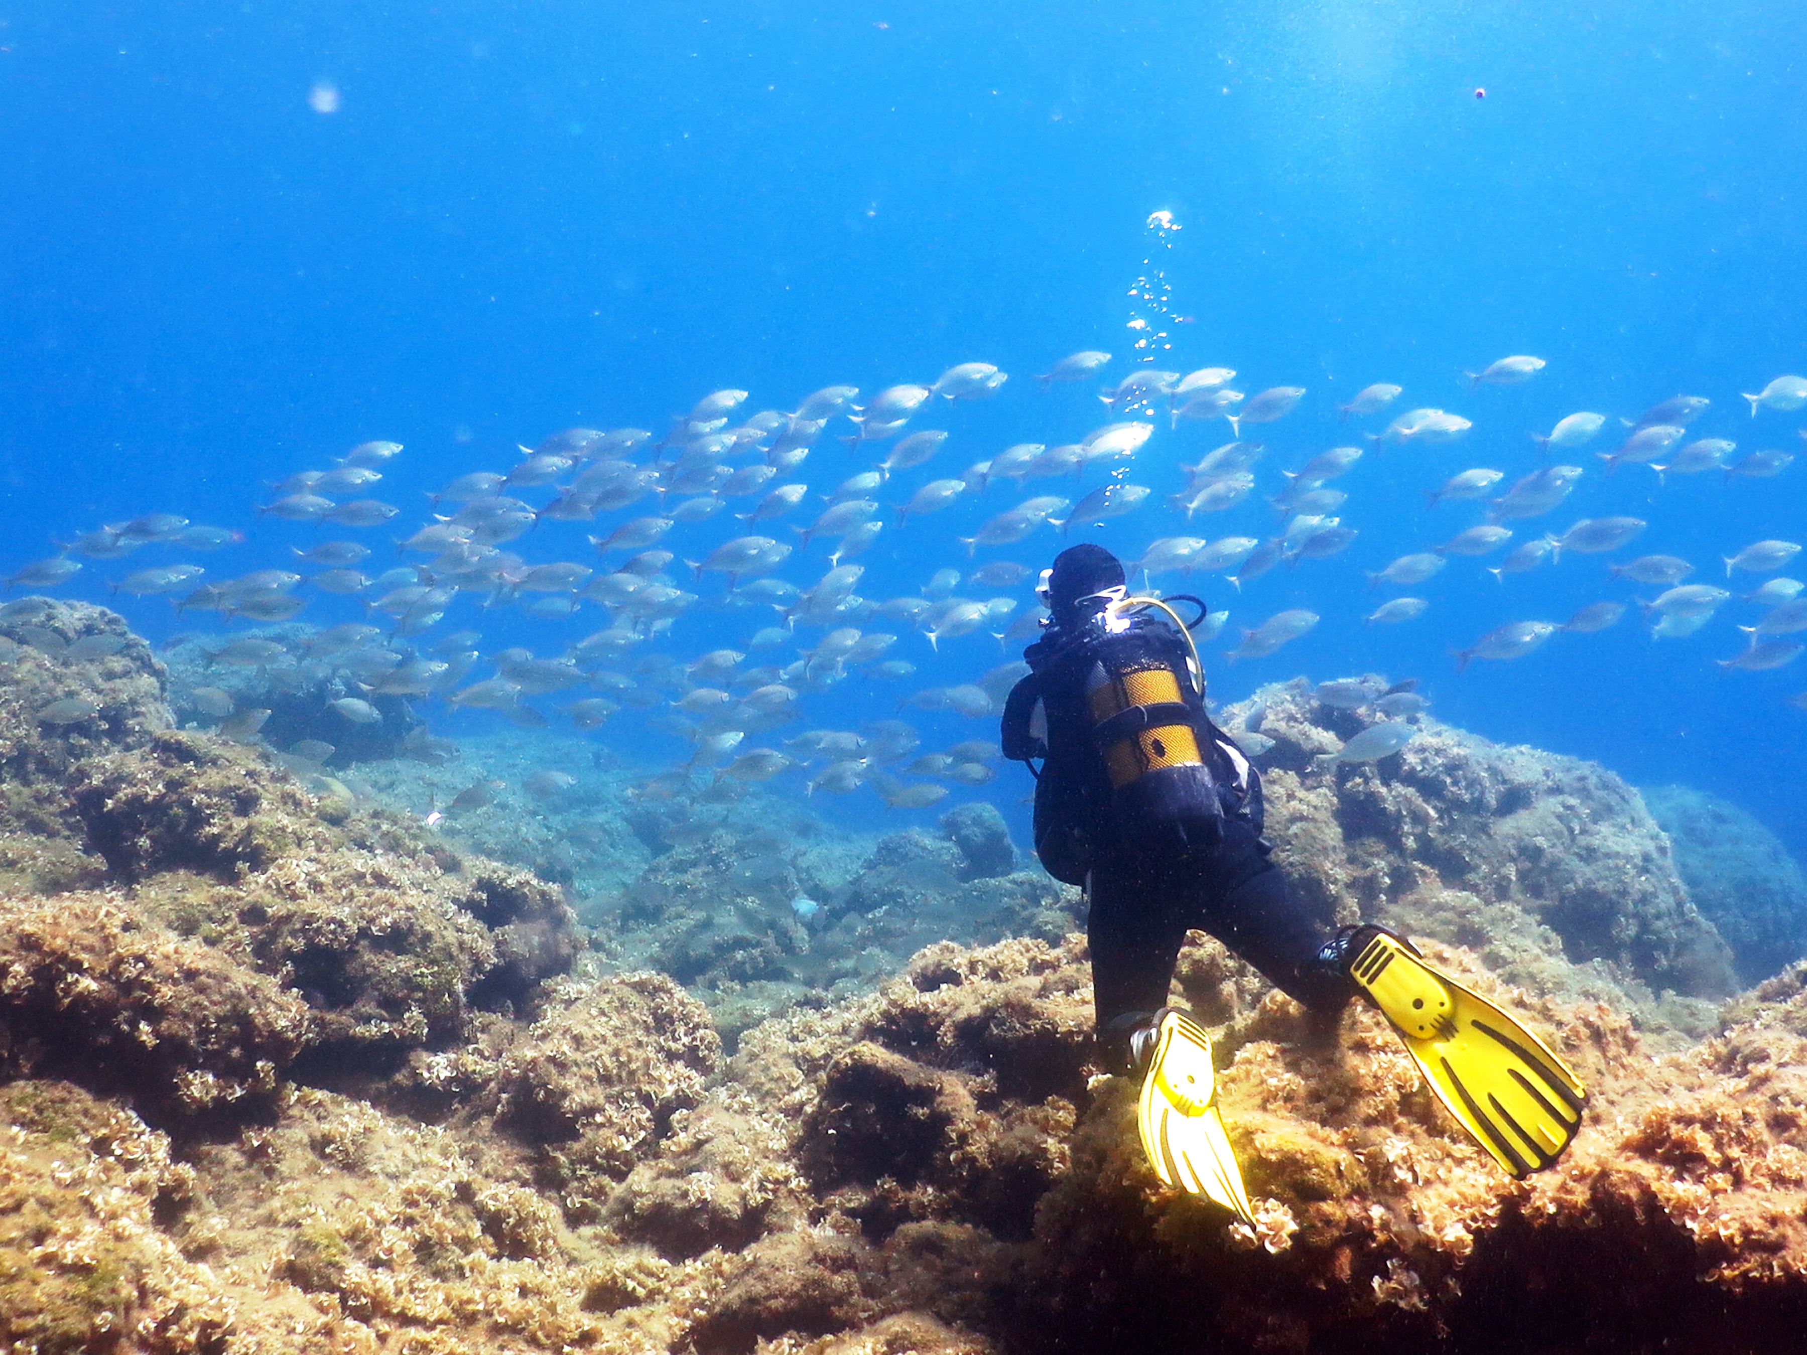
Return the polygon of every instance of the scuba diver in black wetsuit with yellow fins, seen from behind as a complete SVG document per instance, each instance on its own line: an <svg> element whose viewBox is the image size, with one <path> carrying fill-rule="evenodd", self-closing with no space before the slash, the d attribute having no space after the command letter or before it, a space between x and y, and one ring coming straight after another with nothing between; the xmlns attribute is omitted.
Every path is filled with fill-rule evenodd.
<svg viewBox="0 0 1807 1355"><path fill-rule="evenodd" d="M1037 777L1043 865L1086 891L1097 1035L1115 1071L1142 1075L1155 1174L1252 1223L1212 1102L1211 1041L1167 1006L1193 927L1326 1021L1366 995L1505 1171L1554 1163L1587 1102L1574 1071L1406 938L1373 923L1326 936L1287 892L1261 836L1261 777L1205 714L1189 632L1205 603L1131 596L1117 556L1091 544L1061 551L1039 591L1050 616L1005 703L1003 753ZM1198 616L1184 621L1175 602Z"/></svg>

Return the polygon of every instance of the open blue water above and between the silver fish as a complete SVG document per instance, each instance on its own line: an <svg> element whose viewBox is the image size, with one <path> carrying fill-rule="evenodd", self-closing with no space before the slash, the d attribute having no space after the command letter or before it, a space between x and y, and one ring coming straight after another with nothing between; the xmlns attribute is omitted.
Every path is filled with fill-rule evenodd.
<svg viewBox="0 0 1807 1355"><path fill-rule="evenodd" d="M248 533L201 560L210 576L280 564L291 542L354 533L260 520L264 484L372 437L407 444L376 486L403 515L361 533L387 540L423 519L425 490L506 470L519 443L569 425L665 430L719 387L750 390L746 410L793 408L828 383L873 392L969 360L1010 372L992 401L913 421L952 435L880 495L902 502L1010 443L1109 419L1099 383L1041 394L1030 378L1077 349L1115 354L1106 376L1131 370L1149 331L1126 327L1144 314L1128 293L1158 267L1173 349L1140 356L1306 397L1259 430L1249 502L1185 528L1151 499L1090 533L1126 555L1180 531L1276 531L1261 499L1278 472L1350 441L1335 406L1372 381L1406 387L1395 412L1475 423L1451 446L1370 452L1339 481L1361 531L1343 555L1241 594L1216 575L1158 580L1232 625L1323 616L1272 658L1216 658L1220 696L1301 672L1418 676L1442 719L1713 790L1807 849L1807 715L1784 705L1807 668L1722 672L1713 659L1744 645L1735 625L1756 620L1742 603L1686 640L1653 643L1628 616L1462 676L1447 650L1494 625L1653 589L1608 582L1599 556L1503 584L1487 560L1453 560L1418 589L1424 618L1361 621L1388 596L1362 571L1480 519L1426 511L1422 491L1467 466L1509 484L1540 464L1527 434L1563 414L1635 419L1686 392L1713 401L1691 435L1737 439L1740 455L1798 448L1800 414L1753 419L1738 397L1807 369L1789 145L1807 52L1784 5L25 4L0 49L7 573L154 509ZM1151 231L1153 211L1182 229ZM1458 372L1505 354L1549 365L1467 392ZM1650 528L1614 558L1673 553L1722 582L1722 555L1800 538L1807 466L1659 488L1643 466L1605 473L1594 452L1612 432L1520 540L1630 513ZM1156 426L1126 479L1171 493L1178 464L1222 441L1222 423ZM799 477L831 490L871 461L824 437ZM887 528L858 591L882 600L965 567L956 537L1017 497L1079 497L1008 490ZM717 515L672 546L696 558L732 526ZM1059 544L1043 529L979 558L1039 567ZM596 564L576 524L511 547ZM107 600L108 578L164 558L94 562L61 593ZM815 546L781 576L826 567ZM698 591L674 654L772 620L712 609L719 582ZM161 600L126 611L152 634L197 625ZM305 618L356 614L334 600ZM537 621L464 598L446 620L461 625L486 652L557 654L605 616ZM894 652L914 679L810 696L797 728L853 728L1014 658L983 634L931 652L907 631ZM920 726L925 746L990 734L950 715ZM643 730L600 737L687 752ZM1006 770L979 793L1014 806L1017 782ZM837 804L867 809L869 795Z"/></svg>

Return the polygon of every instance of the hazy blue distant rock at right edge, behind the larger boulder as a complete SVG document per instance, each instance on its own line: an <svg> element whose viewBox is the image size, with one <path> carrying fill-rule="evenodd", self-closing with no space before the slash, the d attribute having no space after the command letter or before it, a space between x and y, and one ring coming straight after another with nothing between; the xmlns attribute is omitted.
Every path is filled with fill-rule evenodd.
<svg viewBox="0 0 1807 1355"><path fill-rule="evenodd" d="M1738 806L1688 786L1644 790L1695 907L1726 938L1738 977L1760 983L1807 954L1807 874Z"/></svg>

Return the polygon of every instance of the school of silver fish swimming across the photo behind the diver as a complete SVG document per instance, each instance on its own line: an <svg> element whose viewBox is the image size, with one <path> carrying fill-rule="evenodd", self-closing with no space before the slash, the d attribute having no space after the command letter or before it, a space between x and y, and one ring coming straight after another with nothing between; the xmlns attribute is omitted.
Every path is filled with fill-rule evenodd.
<svg viewBox="0 0 1807 1355"><path fill-rule="evenodd" d="M1075 352L1035 379L1048 392L1095 381L1109 363L1106 352ZM1541 358L1516 354L1464 376L1475 396L1484 387L1532 381L1543 369ZM1212 540L1162 535L1151 526L1149 544L1126 562L1144 587L1222 575L1241 593L1279 565L1326 560L1355 542L1359 529L1344 522L1352 493L1337 482L1350 484L1344 477L1364 457L1422 446L1442 463L1475 428L1469 417L1433 406L1393 414L1404 388L1373 383L1337 405L1343 421L1366 423L1361 437L1328 450L1292 448L1287 459L1296 468L1278 472L1272 493L1263 495L1259 468L1283 457L1252 430L1278 443L1283 421L1308 390L1274 385L1245 396L1231 387L1234 379L1227 367L1167 372L1137 365L1102 387L1099 399L1109 416L1102 425L1070 426L1072 441L1014 443L970 461L983 448L961 455L958 434L918 425L960 403L997 397L1008 376L992 363L958 363L934 381L891 385L864 399L851 385L831 385L793 410L746 414L748 392L716 390L663 434L567 428L533 448L520 446L511 464L432 486L430 515L394 537L398 564L387 569L372 562L378 551L370 542L385 546L378 533L394 531L403 513L374 495L407 463L398 461L401 444L367 441L323 470L302 470L271 486L258 519L304 524L318 538L289 546L269 567L210 578L204 565L181 556L255 540L258 528L213 528L159 511L60 542L58 553L14 569L5 584L42 593L78 584L92 567L114 594L168 598L184 616L211 616L222 629L291 623L309 612L320 623L302 631L220 634L211 659L258 668L280 688L320 688L347 726L381 723L372 701L383 697L416 708L486 710L529 728L562 717L578 730L596 730L634 712L636 726L663 730L683 748L670 770L641 786L651 799L732 795L797 773L808 793L867 788L893 808L927 809L956 786L990 782L997 746L963 739L943 752L922 752L918 730L904 719L833 728L829 694L838 683L896 683L900 714L994 717L1026 672L1008 650L1032 641L1046 616L1034 594L1039 571L1088 528L1138 515L1144 522L1164 519L1167 531L1187 531L1243 504L1247 520L1263 511L1265 497L1281 515L1278 531ZM1753 419L1789 414L1807 406L1807 378L1778 376L1755 394L1740 394ZM1780 571L1800 544L1727 542L1715 562L1724 565L1727 587L1720 587L1686 582L1697 567L1682 556L1630 555L1648 526L1639 517L1579 519L1559 529L1540 524L1558 513L1596 461L1596 475L1644 468L1659 486L1708 473L1767 481L1794 461L1785 450L1737 455L1727 437L1691 437L1708 408L1706 397L1677 396L1635 419L1565 414L1547 432L1529 430L1538 464L1521 473L1397 463L1404 470L1393 475L1422 475L1428 509L1435 509L1428 520L1460 506L1480 509L1482 520L1453 528L1442 540L1429 540L1442 533L1428 531L1420 547L1370 571L1372 589L1406 593L1377 598L1362 620L1384 627L1418 621L1433 611L1433 600L1420 593L1433 593L1426 585L1464 560L1496 560L1478 567L1503 584L1509 575L1561 567L1565 556L1612 555L1603 582L1624 580L1646 596L1599 598L1563 620L1498 625L1451 647L1458 670L1476 659L1521 659L1558 634L1610 629L1632 605L1652 638L1677 640L1737 603L1746 640L1715 661L1727 670L1791 663L1803 649L1796 636L1807 634L1807 585ZM1184 446L1182 437L1196 439L1196 425L1218 419L1231 441L1193 464L1166 450ZM956 470L958 463L967 464ZM972 535L934 529L934 515L974 499L990 499L999 509ZM918 591L889 598L860 593L866 569L857 560L880 538L909 538L909 558L922 562ZM1021 560L999 558L1003 549ZM119 564L139 551L152 562ZM1740 576L1753 578L1742 598L1731 585ZM548 652L482 652L468 621L504 607L537 621L596 623ZM27 611L29 603L11 603L0 616L29 621ZM1211 611L1194 636L1216 640L1227 616ZM1238 627L1223 658L1270 658L1317 621L1314 611L1287 607ZM907 636L920 645L905 643ZM1005 661L974 636L1001 643ZM51 641L56 636L47 636ZM922 685L923 665L945 681ZM1321 683L1317 696L1366 708L1381 721L1350 739L1335 755L1343 762L1399 752L1413 734L1409 721L1428 705L1411 683L1337 679ZM206 701L217 703L210 714L235 737L257 737L267 714L235 710L224 692ZM1807 708L1807 694L1791 703ZM817 712L824 728L779 737ZM92 715L90 703L80 699L38 712L45 724ZM1250 717L1238 732L1254 752L1263 741L1258 724ZM421 730L410 739L428 748L434 743ZM304 743L280 755L302 771L320 771L332 746ZM526 790L557 797L560 777L569 782L566 773L538 773ZM490 782L477 782L446 809L482 804L488 795Z"/></svg>

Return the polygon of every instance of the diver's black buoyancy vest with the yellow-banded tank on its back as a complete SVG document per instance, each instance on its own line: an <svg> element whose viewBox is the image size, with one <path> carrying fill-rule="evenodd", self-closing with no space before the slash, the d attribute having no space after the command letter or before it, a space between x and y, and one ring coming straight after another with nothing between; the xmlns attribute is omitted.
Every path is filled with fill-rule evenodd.
<svg viewBox="0 0 1807 1355"><path fill-rule="evenodd" d="M1082 883L1099 862L1209 851L1227 817L1259 836L1259 777L1205 714L1203 676L1176 629L1100 612L1023 658L1030 676L1005 703L1003 750L1046 759L1035 851L1050 874Z"/></svg>

